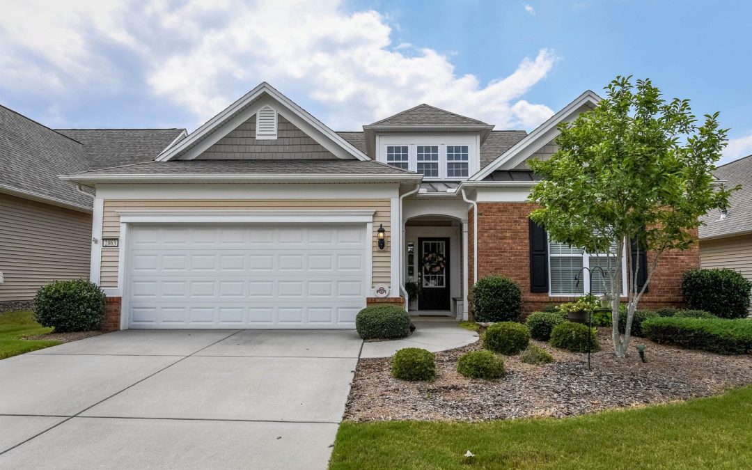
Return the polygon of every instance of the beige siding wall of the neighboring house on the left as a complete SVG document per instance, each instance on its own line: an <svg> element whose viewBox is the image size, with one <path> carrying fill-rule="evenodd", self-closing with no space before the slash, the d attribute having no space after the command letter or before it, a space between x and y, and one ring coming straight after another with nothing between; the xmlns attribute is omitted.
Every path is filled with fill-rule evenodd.
<svg viewBox="0 0 752 470"><path fill-rule="evenodd" d="M55 279L89 278L92 216L0 193L0 301L30 300Z"/></svg>

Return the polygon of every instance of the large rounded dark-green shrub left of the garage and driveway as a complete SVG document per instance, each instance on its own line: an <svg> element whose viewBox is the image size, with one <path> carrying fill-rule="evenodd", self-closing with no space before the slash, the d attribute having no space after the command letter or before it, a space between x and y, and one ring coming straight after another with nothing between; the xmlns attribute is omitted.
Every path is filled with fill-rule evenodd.
<svg viewBox="0 0 752 470"><path fill-rule="evenodd" d="M85 279L53 280L34 298L34 318L56 332L99 329L105 318L105 293Z"/></svg>

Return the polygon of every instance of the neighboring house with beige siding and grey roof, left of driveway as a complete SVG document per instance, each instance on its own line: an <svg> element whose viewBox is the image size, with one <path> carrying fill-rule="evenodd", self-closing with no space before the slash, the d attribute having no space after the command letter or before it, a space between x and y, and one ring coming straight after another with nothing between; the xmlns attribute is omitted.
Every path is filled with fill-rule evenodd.
<svg viewBox="0 0 752 470"><path fill-rule="evenodd" d="M53 130L0 106L0 311L89 277L94 195L57 175L152 160L184 132Z"/></svg>

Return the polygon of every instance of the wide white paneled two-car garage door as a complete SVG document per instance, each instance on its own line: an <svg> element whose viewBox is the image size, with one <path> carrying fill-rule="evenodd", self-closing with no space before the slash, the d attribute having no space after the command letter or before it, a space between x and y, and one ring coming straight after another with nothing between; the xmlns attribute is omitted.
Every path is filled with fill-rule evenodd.
<svg viewBox="0 0 752 470"><path fill-rule="evenodd" d="M132 226L130 328L354 328L365 224Z"/></svg>

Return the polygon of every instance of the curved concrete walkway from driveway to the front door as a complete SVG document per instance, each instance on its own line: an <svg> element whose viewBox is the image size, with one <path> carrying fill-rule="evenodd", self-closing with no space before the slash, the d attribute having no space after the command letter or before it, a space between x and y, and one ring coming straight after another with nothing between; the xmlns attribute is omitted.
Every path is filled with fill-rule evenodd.
<svg viewBox="0 0 752 470"><path fill-rule="evenodd" d="M459 328L457 320L441 317L412 317L415 332L404 339L363 343L360 357L390 357L403 347L421 347L432 353L462 347L478 341L478 333Z"/></svg>

